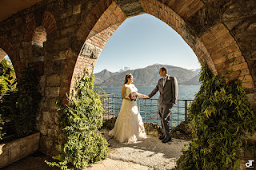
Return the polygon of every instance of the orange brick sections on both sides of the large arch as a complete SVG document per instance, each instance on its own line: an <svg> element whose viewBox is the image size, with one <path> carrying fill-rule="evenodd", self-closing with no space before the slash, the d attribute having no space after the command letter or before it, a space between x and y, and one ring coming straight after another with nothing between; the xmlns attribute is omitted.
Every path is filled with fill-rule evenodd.
<svg viewBox="0 0 256 170"><path fill-rule="evenodd" d="M194 50L198 61L206 61L212 73L215 75L227 74L230 80L239 78L242 80L243 87L254 88L254 81L238 43L222 23L206 30L206 33L200 37L190 32L186 20L204 6L202 1L140 0L140 2L144 13L166 22L180 34ZM65 93L73 88L75 77L82 69L93 70L98 56L90 57L91 51L93 51L91 46L97 47L99 50L103 49L108 39L126 18L126 14L112 0L100 0L90 11L76 34L77 40L80 41L78 46L81 46L82 50L70 49L70 54L67 55L62 74L61 97L65 97ZM192 41L190 37L193 37ZM234 58L237 62L233 65ZM230 74L231 69L234 72Z"/></svg>

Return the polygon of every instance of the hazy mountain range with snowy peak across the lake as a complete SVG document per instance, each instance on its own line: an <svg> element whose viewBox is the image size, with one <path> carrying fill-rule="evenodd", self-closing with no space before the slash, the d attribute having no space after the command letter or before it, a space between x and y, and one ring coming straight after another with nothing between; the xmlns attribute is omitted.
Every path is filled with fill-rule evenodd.
<svg viewBox="0 0 256 170"><path fill-rule="evenodd" d="M121 69L119 72L112 73L107 69L99 73L95 73L94 85L100 87L119 87L125 81L127 73L132 73L134 76L134 85L136 86L155 86L159 76L159 69L165 66L168 69L168 74L177 78L178 85L200 85L198 69L189 70L172 65L154 64L142 69Z"/></svg>

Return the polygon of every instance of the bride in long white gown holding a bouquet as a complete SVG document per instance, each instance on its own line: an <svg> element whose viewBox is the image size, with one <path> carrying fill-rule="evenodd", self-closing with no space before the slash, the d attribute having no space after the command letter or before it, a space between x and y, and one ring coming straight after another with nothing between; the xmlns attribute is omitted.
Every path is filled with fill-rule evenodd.
<svg viewBox="0 0 256 170"><path fill-rule="evenodd" d="M146 97L144 94L137 93L138 89L132 84L133 75L126 74L126 80L122 85L121 97L123 98L118 119L114 128L109 132L110 136L114 136L121 143L136 143L137 140L146 139L146 132L142 122L142 117L138 112L136 99L138 97Z"/></svg>

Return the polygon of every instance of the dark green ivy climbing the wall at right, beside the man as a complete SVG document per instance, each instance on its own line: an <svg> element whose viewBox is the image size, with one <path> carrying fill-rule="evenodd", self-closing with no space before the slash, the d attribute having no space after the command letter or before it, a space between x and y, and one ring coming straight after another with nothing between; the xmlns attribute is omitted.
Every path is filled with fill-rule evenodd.
<svg viewBox="0 0 256 170"><path fill-rule="evenodd" d="M256 129L255 109L241 81L213 76L206 66L202 66L200 81L201 88L189 109L193 140L176 169L238 168L243 141Z"/></svg>

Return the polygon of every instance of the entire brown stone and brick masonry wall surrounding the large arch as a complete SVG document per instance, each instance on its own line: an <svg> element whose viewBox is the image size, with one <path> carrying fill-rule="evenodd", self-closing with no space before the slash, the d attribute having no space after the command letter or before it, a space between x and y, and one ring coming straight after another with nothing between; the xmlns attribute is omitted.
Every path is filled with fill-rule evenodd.
<svg viewBox="0 0 256 170"><path fill-rule="evenodd" d="M65 140L55 102L66 103L126 18L145 13L173 28L212 73L240 79L256 108L255 0L45 0L0 22L0 59L7 53L18 77L29 65L41 74L42 152L56 155Z"/></svg>

